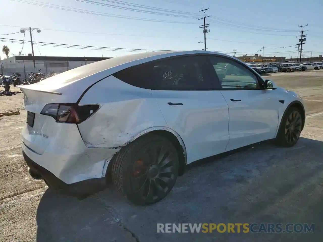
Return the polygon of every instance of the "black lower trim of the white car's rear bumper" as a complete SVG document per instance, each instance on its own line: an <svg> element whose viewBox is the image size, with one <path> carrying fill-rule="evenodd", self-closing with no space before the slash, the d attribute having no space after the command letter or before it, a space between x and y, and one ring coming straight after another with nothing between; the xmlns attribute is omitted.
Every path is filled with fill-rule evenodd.
<svg viewBox="0 0 323 242"><path fill-rule="evenodd" d="M27 166L29 167L29 174L34 179L43 179L49 187L58 190L62 194L76 197L86 197L93 193L103 190L106 187L106 178L92 178L88 180L79 181L72 184L67 184L57 178L53 173L42 166L36 164L30 159L24 151L22 151Z"/></svg>

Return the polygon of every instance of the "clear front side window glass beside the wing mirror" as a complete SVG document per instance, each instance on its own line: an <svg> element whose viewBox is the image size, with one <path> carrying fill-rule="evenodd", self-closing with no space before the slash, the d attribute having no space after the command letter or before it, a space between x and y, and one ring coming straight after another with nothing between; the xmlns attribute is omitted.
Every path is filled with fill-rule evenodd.
<svg viewBox="0 0 323 242"><path fill-rule="evenodd" d="M222 89L255 90L261 89L256 75L243 66L225 57L210 57Z"/></svg>

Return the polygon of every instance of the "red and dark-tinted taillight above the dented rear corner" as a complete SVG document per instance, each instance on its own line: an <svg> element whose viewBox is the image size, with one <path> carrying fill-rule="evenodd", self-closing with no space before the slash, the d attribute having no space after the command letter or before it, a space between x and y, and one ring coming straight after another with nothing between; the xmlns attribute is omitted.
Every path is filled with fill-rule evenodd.
<svg viewBox="0 0 323 242"><path fill-rule="evenodd" d="M79 124L99 109L98 104L78 106L76 103L50 103L41 114L55 118L56 122Z"/></svg>

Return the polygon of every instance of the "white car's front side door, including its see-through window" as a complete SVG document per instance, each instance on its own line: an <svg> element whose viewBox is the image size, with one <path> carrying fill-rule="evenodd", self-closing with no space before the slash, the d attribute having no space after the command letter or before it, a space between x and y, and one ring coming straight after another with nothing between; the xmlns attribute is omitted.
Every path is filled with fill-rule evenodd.
<svg viewBox="0 0 323 242"><path fill-rule="evenodd" d="M229 106L229 143L226 151L275 137L278 105L275 90L264 90L264 80L244 64L224 56L210 57ZM225 76L219 73L226 66Z"/></svg>

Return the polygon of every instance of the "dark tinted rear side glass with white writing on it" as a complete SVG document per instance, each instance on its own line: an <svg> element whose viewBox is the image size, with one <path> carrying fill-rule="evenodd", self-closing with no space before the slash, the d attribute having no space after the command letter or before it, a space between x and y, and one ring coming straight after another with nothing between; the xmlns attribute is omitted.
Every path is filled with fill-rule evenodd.
<svg viewBox="0 0 323 242"><path fill-rule="evenodd" d="M182 56L153 61L122 70L113 76L141 88L155 90L207 90L211 65L203 56Z"/></svg>

